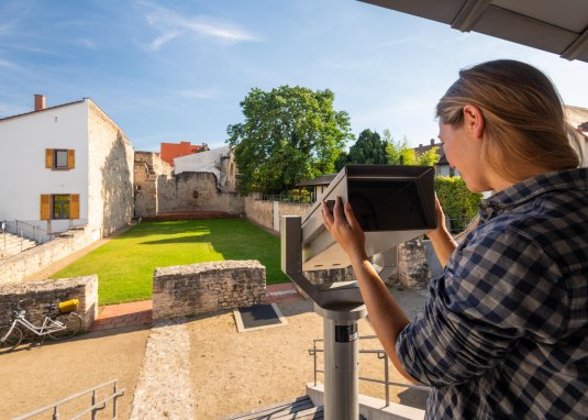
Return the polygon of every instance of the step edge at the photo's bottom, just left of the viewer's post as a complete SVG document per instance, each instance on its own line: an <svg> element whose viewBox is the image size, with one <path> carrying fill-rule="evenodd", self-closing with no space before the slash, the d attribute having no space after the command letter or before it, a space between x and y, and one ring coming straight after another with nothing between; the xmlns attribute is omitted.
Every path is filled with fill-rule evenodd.
<svg viewBox="0 0 588 420"><path fill-rule="evenodd" d="M307 396L293 400L275 404L241 415L231 416L224 420L319 420L323 419L323 408L314 407Z"/></svg>

